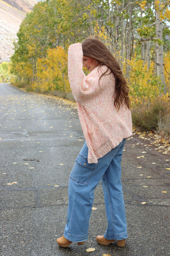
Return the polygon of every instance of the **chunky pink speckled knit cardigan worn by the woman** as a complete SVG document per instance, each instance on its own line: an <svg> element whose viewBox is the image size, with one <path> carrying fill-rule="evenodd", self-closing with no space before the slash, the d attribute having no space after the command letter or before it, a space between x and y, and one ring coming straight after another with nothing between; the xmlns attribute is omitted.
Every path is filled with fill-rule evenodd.
<svg viewBox="0 0 170 256"><path fill-rule="evenodd" d="M105 65L85 76L82 67L83 51L80 43L71 44L68 51L70 87L77 101L78 115L88 147L88 163L97 163L124 139L132 135L131 113L123 106L114 106L115 77L104 75ZM108 74L109 72L107 72Z"/></svg>

